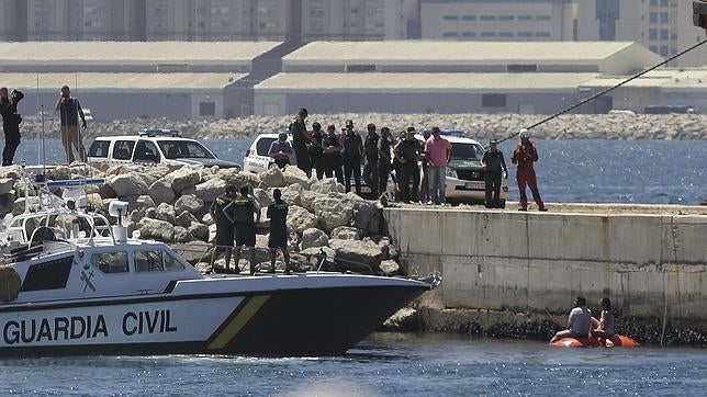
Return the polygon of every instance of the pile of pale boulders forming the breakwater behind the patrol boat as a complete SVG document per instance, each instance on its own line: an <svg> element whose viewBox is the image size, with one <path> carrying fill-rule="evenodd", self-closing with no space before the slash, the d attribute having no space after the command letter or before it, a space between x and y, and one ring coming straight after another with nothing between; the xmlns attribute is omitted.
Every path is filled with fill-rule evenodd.
<svg viewBox="0 0 707 397"><path fill-rule="evenodd" d="M19 174L16 167L0 169L0 214L5 223L24 211L24 188L19 183ZM90 206L108 214L111 201L127 202L130 213L123 225L128 235L138 230L141 238L168 242L203 272L211 271L207 262L216 231L209 208L216 196L225 193L227 184L237 189L249 186L261 206L256 239L258 262L269 261L266 213L272 203L272 191L281 189L290 205L289 245L296 265L318 266L321 252L326 252L332 260L328 269L375 274L401 272L399 250L384 236L378 204L354 193L345 194L344 186L334 179L307 179L295 167L284 171L271 168L259 175L203 166L121 165L101 169L60 166L47 171L50 180L86 175L105 179L105 184L87 189ZM240 266L246 269L246 263L242 259ZM284 266L281 259L278 266Z"/></svg>

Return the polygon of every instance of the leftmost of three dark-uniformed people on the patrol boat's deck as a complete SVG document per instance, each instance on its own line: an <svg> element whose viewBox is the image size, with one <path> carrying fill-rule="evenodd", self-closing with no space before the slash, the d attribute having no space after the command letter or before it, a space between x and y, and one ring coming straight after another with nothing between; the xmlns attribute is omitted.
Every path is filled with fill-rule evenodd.
<svg viewBox="0 0 707 397"><path fill-rule="evenodd" d="M211 268L214 273L225 273L231 268L231 253L233 251L233 200L236 197L236 186L227 185L226 195L220 195L214 200L209 212L211 217L216 223L216 241L213 251L211 252ZM214 265L216 256L220 250L225 251L226 265L224 269ZM236 268L238 261L236 261Z"/></svg>

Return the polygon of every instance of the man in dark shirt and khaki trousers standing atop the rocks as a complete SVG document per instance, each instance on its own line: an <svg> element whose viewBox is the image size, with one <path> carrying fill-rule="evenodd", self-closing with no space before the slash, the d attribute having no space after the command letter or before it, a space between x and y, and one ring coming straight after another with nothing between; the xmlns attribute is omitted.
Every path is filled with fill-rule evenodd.
<svg viewBox="0 0 707 397"><path fill-rule="evenodd" d="M79 133L79 116L81 116L81 127L86 129L86 117L79 100L71 98L71 91L68 86L61 87L59 99L54 106L59 112L61 118L61 145L66 151L66 160L74 162L74 148L79 152L81 161L86 161L86 148L81 141Z"/></svg>

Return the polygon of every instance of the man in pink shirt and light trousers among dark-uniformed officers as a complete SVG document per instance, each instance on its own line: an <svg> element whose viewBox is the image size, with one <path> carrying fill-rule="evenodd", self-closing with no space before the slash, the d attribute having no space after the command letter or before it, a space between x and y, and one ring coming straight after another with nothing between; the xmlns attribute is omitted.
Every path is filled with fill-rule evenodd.
<svg viewBox="0 0 707 397"><path fill-rule="evenodd" d="M425 154L429 178L429 202L427 204L444 205L447 165L451 159L451 144L441 136L439 127L434 127L433 136L425 141Z"/></svg>

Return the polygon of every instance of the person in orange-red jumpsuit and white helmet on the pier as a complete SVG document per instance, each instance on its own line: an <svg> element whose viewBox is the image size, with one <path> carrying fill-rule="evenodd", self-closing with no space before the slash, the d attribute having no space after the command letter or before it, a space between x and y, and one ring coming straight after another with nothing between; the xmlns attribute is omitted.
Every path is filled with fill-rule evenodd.
<svg viewBox="0 0 707 397"><path fill-rule="evenodd" d="M516 179L518 181L518 191L520 192L520 208L518 211L528 211L528 196L526 195L526 185L530 188L532 200L538 204L538 211L548 211L540 198L540 191L538 191L538 181L535 175L534 162L538 161L538 149L530 141L530 134L526 128L521 128L518 133L520 143L513 151L510 161L518 165L516 171Z"/></svg>

